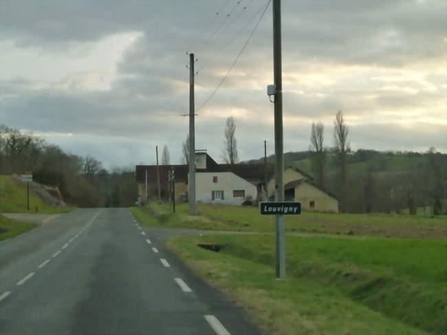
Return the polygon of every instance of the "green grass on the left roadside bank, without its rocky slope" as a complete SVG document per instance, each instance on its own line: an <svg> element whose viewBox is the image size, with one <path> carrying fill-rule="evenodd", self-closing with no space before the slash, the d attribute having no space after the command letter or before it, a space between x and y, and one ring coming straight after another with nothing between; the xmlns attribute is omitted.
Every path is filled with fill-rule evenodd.
<svg viewBox="0 0 447 335"><path fill-rule="evenodd" d="M27 210L26 184L15 182L10 175L0 175L0 213L35 213L36 206L41 214L67 213L75 209L48 206L30 191L30 210Z"/></svg>

